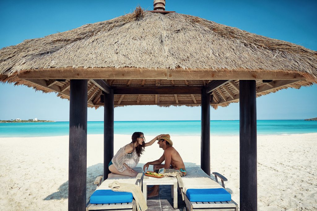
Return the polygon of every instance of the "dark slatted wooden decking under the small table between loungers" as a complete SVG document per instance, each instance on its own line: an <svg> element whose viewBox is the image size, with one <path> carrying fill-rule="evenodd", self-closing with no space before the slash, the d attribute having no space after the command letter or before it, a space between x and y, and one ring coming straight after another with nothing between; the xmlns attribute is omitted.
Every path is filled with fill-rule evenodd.
<svg viewBox="0 0 317 211"><path fill-rule="evenodd" d="M178 208L173 208L173 199L171 198L171 186L160 185L159 195L147 199L147 211L183 211L185 202L182 201L182 196L178 193Z"/></svg>

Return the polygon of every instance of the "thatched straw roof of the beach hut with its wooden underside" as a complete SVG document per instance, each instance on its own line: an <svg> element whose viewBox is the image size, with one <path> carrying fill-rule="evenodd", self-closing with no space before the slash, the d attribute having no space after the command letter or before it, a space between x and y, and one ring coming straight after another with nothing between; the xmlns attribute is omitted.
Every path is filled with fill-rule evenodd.
<svg viewBox="0 0 317 211"><path fill-rule="evenodd" d="M257 96L317 82L316 51L164 12L137 8L2 48L0 81L69 99L69 80L89 79L87 104L96 108L103 105L100 83L113 88L115 106L197 106L201 88L209 87L217 108L238 102L242 79L256 80Z"/></svg>

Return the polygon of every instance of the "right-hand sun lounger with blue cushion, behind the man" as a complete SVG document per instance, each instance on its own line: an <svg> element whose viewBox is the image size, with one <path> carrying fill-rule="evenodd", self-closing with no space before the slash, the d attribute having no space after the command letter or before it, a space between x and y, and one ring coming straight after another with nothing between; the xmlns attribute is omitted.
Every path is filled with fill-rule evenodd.
<svg viewBox="0 0 317 211"><path fill-rule="evenodd" d="M182 177L183 187L180 187L187 208L184 208L184 211L238 210L238 205L231 200L230 193L224 189L223 181L227 181L225 177L213 172L216 178L214 181L199 167L186 168L186 170L186 176ZM218 183L217 177L221 179L223 186Z"/></svg>

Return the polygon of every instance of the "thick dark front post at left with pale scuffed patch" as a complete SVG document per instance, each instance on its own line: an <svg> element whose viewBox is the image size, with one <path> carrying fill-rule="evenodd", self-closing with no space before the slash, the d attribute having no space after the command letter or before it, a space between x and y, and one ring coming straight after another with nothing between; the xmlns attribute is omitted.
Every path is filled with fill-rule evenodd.
<svg viewBox="0 0 317 211"><path fill-rule="evenodd" d="M68 210L86 210L87 80L70 80Z"/></svg>

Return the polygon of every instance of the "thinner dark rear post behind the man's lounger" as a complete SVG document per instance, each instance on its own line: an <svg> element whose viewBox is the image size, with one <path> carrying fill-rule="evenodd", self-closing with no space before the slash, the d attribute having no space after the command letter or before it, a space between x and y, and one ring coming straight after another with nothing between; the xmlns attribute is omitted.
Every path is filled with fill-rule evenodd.
<svg viewBox="0 0 317 211"><path fill-rule="evenodd" d="M210 94L201 90L201 169L210 175Z"/></svg>

